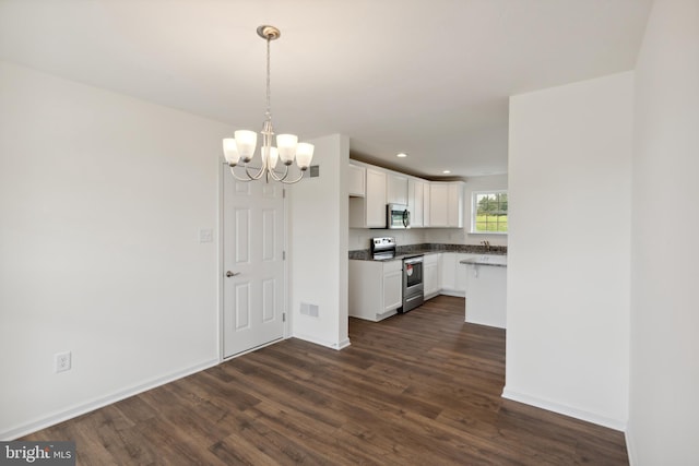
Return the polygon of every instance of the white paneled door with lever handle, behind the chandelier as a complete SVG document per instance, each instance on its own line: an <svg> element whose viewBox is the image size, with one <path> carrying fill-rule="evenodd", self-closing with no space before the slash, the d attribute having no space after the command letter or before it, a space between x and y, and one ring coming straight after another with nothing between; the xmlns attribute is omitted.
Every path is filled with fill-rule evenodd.
<svg viewBox="0 0 699 466"><path fill-rule="evenodd" d="M224 357L284 337L284 193L224 175Z"/></svg>

